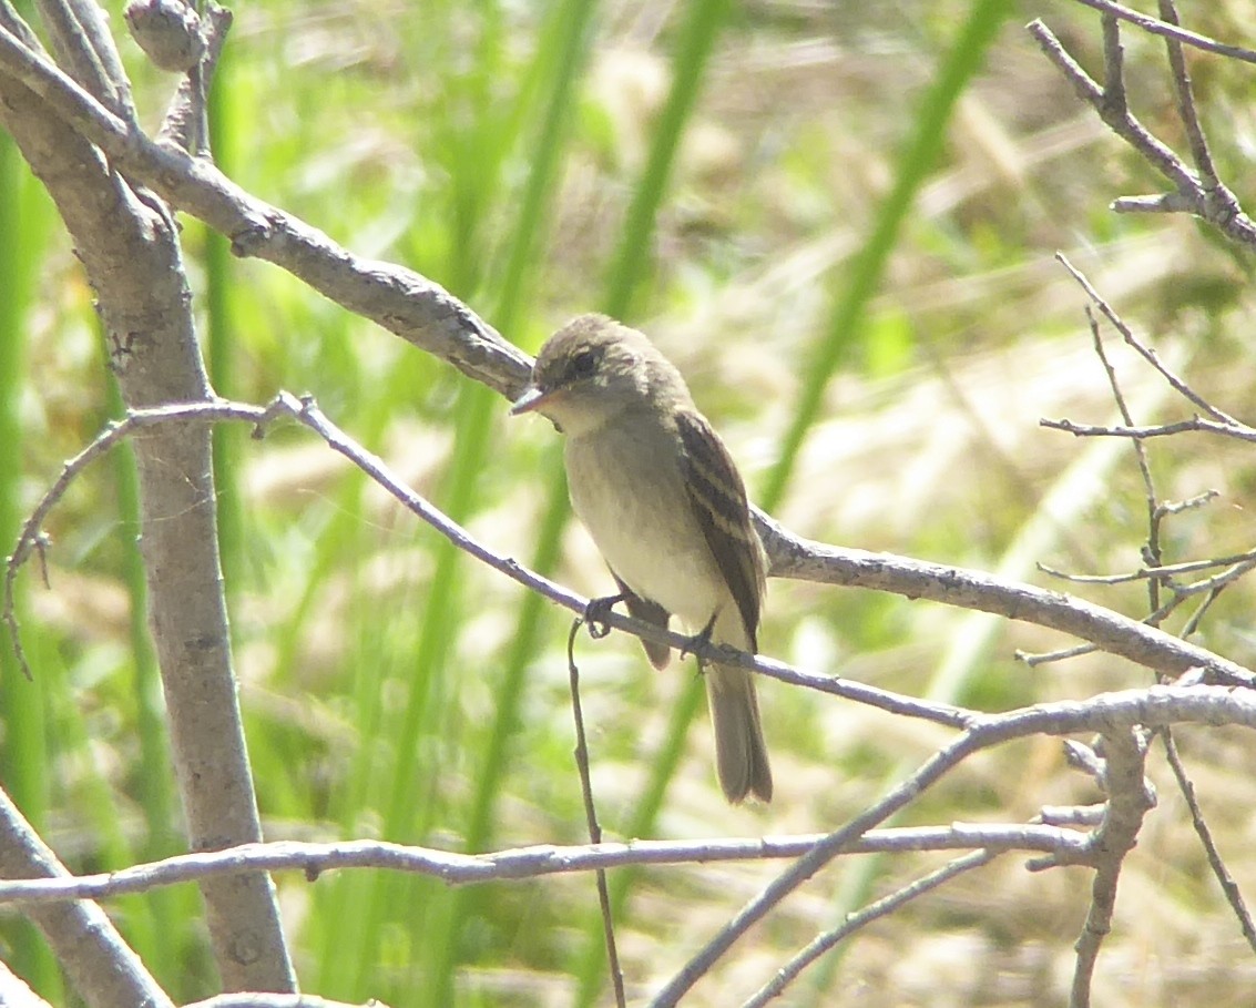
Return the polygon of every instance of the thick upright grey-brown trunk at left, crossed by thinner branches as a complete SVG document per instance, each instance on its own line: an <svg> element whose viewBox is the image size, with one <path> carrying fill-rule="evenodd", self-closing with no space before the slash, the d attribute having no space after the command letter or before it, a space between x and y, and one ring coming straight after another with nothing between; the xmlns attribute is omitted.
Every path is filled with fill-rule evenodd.
<svg viewBox="0 0 1256 1008"><path fill-rule="evenodd" d="M5 25L0 40L10 47L20 45L6 30L15 16L8 9L0 18ZM88 16L99 19L92 41L112 47L94 4L78 4L67 14L69 19ZM107 74L111 65L121 65L117 54L112 55L113 60L100 62ZM46 64L29 49L25 57ZM112 102L129 92L124 78L109 80ZM127 405L208 398L170 210L117 173L99 148L6 68L0 68L0 124L46 186L74 239L97 294L111 363ZM148 617L188 842L192 850L214 850L257 841L261 824L219 568L208 430L202 425L153 430L136 441L136 459ZM202 894L226 988L295 990L269 877L214 880L202 886Z"/></svg>

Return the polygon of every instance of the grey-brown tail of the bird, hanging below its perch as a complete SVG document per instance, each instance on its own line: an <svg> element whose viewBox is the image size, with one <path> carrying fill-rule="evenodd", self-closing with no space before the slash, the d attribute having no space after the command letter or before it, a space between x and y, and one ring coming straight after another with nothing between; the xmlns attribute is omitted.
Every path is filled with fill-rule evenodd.
<svg viewBox="0 0 1256 1008"><path fill-rule="evenodd" d="M772 770L759 719L755 674L736 665L711 665L706 670L715 760L723 797L734 804L754 794L772 799Z"/></svg>

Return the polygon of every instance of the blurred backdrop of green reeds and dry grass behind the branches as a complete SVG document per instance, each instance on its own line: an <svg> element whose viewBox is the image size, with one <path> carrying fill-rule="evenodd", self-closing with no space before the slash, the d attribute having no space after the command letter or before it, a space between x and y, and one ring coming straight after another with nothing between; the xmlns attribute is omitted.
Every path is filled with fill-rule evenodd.
<svg viewBox="0 0 1256 1008"><path fill-rule="evenodd" d="M112 24L122 25L112 3ZM1193 30L1252 44L1250 0L1182 5ZM1147 505L1132 450L1044 430L1115 420L1086 271L1166 361L1240 417L1256 349L1250 255L1188 219L1117 216L1162 181L1105 132L1024 25L1042 18L1102 73L1098 16L1066 0L268 0L235 8L212 98L220 166L354 253L440 282L535 352L570 315L648 332L688 377L751 496L801 534L1068 589L1036 564L1134 569ZM1163 48L1124 33L1135 113L1182 150ZM146 126L173 78L121 47ZM1247 195L1252 69L1188 53L1220 172ZM0 136L0 533L117 415L92 292L55 212ZM612 582L569 520L541 420L313 294L231 259L183 220L221 395L311 392L368 449L492 548L585 594ZM1135 420L1188 417L1109 347ZM1256 480L1237 444L1149 446L1172 518L1166 561L1247 549ZM571 748L569 618L460 556L295 429L217 432L224 573L269 838L382 837L455 851L587 838ZM136 489L117 452L78 481L28 567L19 612L35 680L0 654L0 770L75 871L182 850L161 688L144 633ZM9 552L4 549L3 552ZM1145 589L1076 586L1143 616ZM1194 640L1256 661L1252 591ZM1179 628L1191 610L1176 616ZM761 649L800 667L1004 710L1144 685L1108 656L1029 667L1073 641L932 603L774 581ZM776 798L730 808L692 661L662 674L628 637L577 657L608 840L828 831L947 734L761 685ZM1250 734L1178 743L1223 853L1256 894ZM1256 960L1173 789L1122 876L1095 1000L1246 1005ZM1026 821L1091 802L1058 739L968 760L903 823ZM737 1003L818 929L942 863L845 857L756 928L686 1002ZM798 1005L1056 1005L1089 899L1081 868L1005 856L860 933L805 974ZM780 865L618 872L620 954L642 999ZM590 876L450 890L383 872L278 879L303 988L396 1005L608 1003ZM177 999L216 980L182 886L109 904ZM0 951L70 995L35 933Z"/></svg>

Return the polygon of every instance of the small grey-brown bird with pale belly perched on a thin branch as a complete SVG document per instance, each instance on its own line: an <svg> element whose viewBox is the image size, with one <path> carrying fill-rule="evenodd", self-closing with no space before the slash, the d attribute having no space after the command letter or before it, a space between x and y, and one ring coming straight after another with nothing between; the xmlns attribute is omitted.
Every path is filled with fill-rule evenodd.
<svg viewBox="0 0 1256 1008"><path fill-rule="evenodd" d="M757 650L764 548L746 488L685 378L642 333L579 315L541 347L511 414L539 412L566 435L571 505L638 620L674 613L700 640ZM671 649L644 642L656 669ZM772 797L754 675L706 670L716 770L732 803Z"/></svg>

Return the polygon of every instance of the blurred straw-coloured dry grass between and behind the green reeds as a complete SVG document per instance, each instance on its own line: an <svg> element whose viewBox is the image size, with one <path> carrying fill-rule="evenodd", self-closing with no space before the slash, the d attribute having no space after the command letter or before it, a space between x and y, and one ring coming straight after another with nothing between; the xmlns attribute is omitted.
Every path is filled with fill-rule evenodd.
<svg viewBox="0 0 1256 1008"><path fill-rule="evenodd" d="M1199 5L1189 16L1211 19L1201 30L1243 41L1251 24L1245 20L1247 6L1228 0L1215 11ZM1117 195L1147 190L1147 173L1079 109L1030 45L1019 23L1040 13L1071 26L1070 41L1095 58L1096 24L1063 0L1026 5L1026 16L1009 24L987 74L953 123L947 162L918 201L849 366L829 390L825 419L806 441L791 491L779 509L779 517L800 533L986 569L1005 562L1061 474L1096 451L1040 429L1039 419L1113 416L1085 331L1083 295L1053 261L1056 250L1084 269L1164 357L1179 361L1199 391L1238 415L1247 406L1256 359L1246 336L1251 299L1245 266L1188 221L1107 214L1104 207ZM363 29L373 16L383 16L373 8L311 14L308 21L283 28L261 20L260 13L241 14L242 40L265 45L271 31L294 33L301 45L289 54L289 65L322 65L329 54L338 54L350 69L386 74L402 62ZM555 238L543 255L540 303L520 338L594 307L593 292L615 248L627 186L666 94L666 34L659 35L658 25L667 24L668 14L668 5L622 5L607 19L584 107L584 114L602 126L579 133L565 166ZM690 376L700 405L725 432L754 489L775 457L796 397L800 359L825 324L831 290L887 189L914 98L947 28L933 20L928 5L879 10L878 5L766 3L749 5L740 18L723 39L685 147L674 197L662 214L651 299L638 320ZM1168 122L1158 52L1132 36L1130 59L1133 79L1139 82L1135 102L1149 122ZM1232 109L1236 94L1245 93L1233 83L1237 74L1210 67L1199 70L1213 74L1208 99ZM1233 136L1218 129L1217 142L1227 148L1223 161L1230 163L1238 160L1250 133L1250 111L1243 114L1247 118L1235 122ZM343 162L320 162L285 185L328 199L343 185L343 175L365 170L362 162L367 162L377 185L404 191L407 172L431 168L417 165L421 158L391 161L387 152L406 150L409 138L397 132L391 117L379 118L369 142L340 151ZM309 157L322 155L314 150ZM314 222L328 224L317 217ZM386 227L371 233L363 225L363 233L374 234L378 248L357 250L407 256ZM74 322L82 318L84 292L72 288L67 297L62 287L74 275L70 260L63 255L49 261L46 300L59 307L34 320L39 338L33 363L46 390L39 410L33 407L30 471L38 474L51 471L53 460L73 450L69 445L92 427L99 410L93 396L67 391L90 388L93 383L82 376L98 362ZM474 303L474 292L460 293ZM55 339L43 339L54 332ZM251 392L260 396L273 385L291 386L310 375L319 381L308 359L285 364L268 338L245 344L252 354L245 381ZM367 372L387 373L399 357L398 348L378 333L345 339ZM1144 366L1129 354L1117 357L1125 395L1148 403L1140 420L1189 414L1162 393ZM452 387L447 376L433 378L416 410L389 416L372 445L417 488L437 496L451 451L443 407ZM501 424L495 427L500 451L471 523L496 548L526 557L543 496L533 471L551 435L540 424L509 429L502 421L495 424ZM43 445L41 431L53 435ZM1163 496L1221 490L1208 508L1174 519L1167 559L1247 548L1256 532L1246 510L1256 485L1250 451L1193 437L1156 444L1152 452ZM236 618L246 705L255 724L288 723L317 740L310 775L334 792L347 773L335 754L372 740L355 734L347 711L349 690L330 699L324 699L324 690L352 676L362 660L363 642L353 635L363 610L377 607L389 613L389 621L401 622L407 611L421 607L433 566L431 543L378 495L354 500L359 510L349 520L364 534L355 540L352 563L325 573L318 586L314 630L296 654L286 656L289 669L279 669L280 652L268 640L268 627L291 612L305 577L304 552L313 551L322 529L349 504L340 496L343 469L308 445L263 446L247 466L244 505L261 515L257 530L275 538L265 556L255 558L264 574L242 597ZM1089 490L1037 540L1041 549L1034 559L1079 572L1137 566L1145 538L1140 494L1132 455L1113 452ZM102 532L92 519L94 509L85 494L68 500L59 513L67 538L82 544L78 556L97 556L92 543ZM84 649L124 640L127 616L109 574L92 569L90 561L84 566L88 569L73 577L58 572L55 601L39 603L41 618L65 626ZM1031 566L1020 573L1053 583ZM95 577L103 578L103 587ZM608 586L582 530L566 537L559 577L587 593ZM1075 591L1132 615L1145 608L1137 588ZM462 597L474 600L476 612L461 625L453 654L475 670L500 660L519 598L510 586L477 571L466 572ZM1213 608L1198 640L1251 665L1253 608L1252 589L1236 586ZM770 588L762 647L803 667L916 693L928 689L947 656L970 646L966 635L978 632L958 611L777 582ZM568 814L575 808L571 781L534 779L554 767L566 773L569 747L559 621L550 620L546 635L529 681L521 729L526 758L512 768L516 787L507 788L501 808L500 845L582 836L579 818ZM1011 660L1014 649L1060 644L1034 627L999 627L971 651L972 667L958 699L999 709L1148 680L1145 670L1107 657L1035 670ZM608 836L614 837L627 828L627 809L648 772L668 703L691 671L673 666L656 675L638 660L632 642L620 638L582 642L580 656L585 716L594 731L594 779ZM397 661L403 665L404 656ZM475 681L465 685L452 716L458 724L487 719L491 690ZM899 760L923 759L942 742L934 729L903 725L775 684L765 686L764 698L777 774L774 804L734 809L720 801L711 786L703 725L691 733L659 836L831 828L874 801ZM387 698L387 704L394 701L399 703ZM1196 728L1183 731L1179 742L1231 868L1243 891L1256 895L1256 863L1248 857L1256 830L1248 811L1256 808L1251 783L1256 740ZM447 764L443 784L451 807L474 788L472 770L465 758ZM1118 918L1100 956L1095 1003L1251 1004L1256 959L1217 895L1163 760L1153 759L1153 774L1161 807L1128 861ZM550 804L555 792L563 797ZM928 796L917 819L1025 819L1044 803L1094 797L1089 784L1066 768L1058 743L1048 740L972 760L937 796ZM359 824L363 831L371 827L365 819ZM441 821L428 841L456 843L458 826L455 818ZM280 835L311 827L318 835L335 835L330 824L281 816L270 830ZM936 858L928 857L896 860L884 866L874 890L888 891L933 863ZM632 992L644 997L656 989L776 871L774 865L749 865L647 874L620 931ZM831 925L843 879L843 865L818 877L744 940L686 1004L736 1003L765 982L784 956L816 929ZM810 998L798 992L789 1003L1063 1004L1089 881L1080 868L1030 875L1019 858L1005 857L869 929L845 951L840 975L828 989ZM285 884L285 899L300 901L293 891L300 886ZM509 904L517 916L502 925L505 934L485 939L480 955L470 956L472 965L463 977L468 999L565 1003L570 982L560 967L546 965L546 956L550 965L564 955L574 958L590 892L592 885L580 879L546 882L545 899L538 897L540 909L529 909L533 895L522 890L502 896L504 906ZM529 941L529 931L540 930L538 921L559 935L544 953Z"/></svg>

